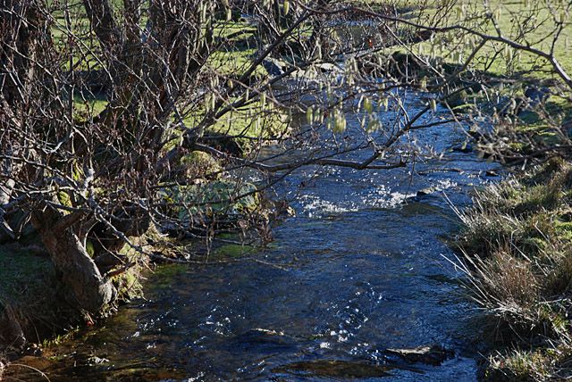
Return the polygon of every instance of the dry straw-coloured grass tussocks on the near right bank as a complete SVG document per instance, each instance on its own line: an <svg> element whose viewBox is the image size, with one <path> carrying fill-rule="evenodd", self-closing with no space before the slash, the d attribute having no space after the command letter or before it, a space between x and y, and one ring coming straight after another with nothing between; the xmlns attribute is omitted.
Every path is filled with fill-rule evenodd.
<svg viewBox="0 0 572 382"><path fill-rule="evenodd" d="M572 376L572 165L553 160L488 187L459 217L471 296L510 333L485 378Z"/></svg>

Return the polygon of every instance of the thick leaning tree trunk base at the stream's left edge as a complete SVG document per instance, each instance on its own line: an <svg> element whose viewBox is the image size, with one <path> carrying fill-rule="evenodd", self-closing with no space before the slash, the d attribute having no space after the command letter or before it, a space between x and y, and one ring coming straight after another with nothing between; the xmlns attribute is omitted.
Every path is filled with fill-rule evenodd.
<svg viewBox="0 0 572 382"><path fill-rule="evenodd" d="M62 275L62 281L73 296L78 308L96 313L114 301L115 288L97 269L96 263L86 251L85 240L81 240L71 228L57 227L57 217L50 207L32 213L32 224L38 229L46 250L50 253L55 268Z"/></svg>

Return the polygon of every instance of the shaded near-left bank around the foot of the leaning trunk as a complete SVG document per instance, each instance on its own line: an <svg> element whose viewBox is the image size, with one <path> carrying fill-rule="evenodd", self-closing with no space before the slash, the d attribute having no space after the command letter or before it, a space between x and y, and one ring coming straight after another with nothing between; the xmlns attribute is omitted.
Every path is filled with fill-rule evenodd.
<svg viewBox="0 0 572 382"><path fill-rule="evenodd" d="M29 240L34 244L26 245ZM139 237L137 242L143 245L145 240ZM90 315L72 308L71 296L33 232L21 242L0 245L0 351L4 357L9 360L21 353L34 353L55 336L93 326L120 304L139 297L148 259L127 247L120 253L130 260L130 266L106 276L113 281L118 298L97 315Z"/></svg>

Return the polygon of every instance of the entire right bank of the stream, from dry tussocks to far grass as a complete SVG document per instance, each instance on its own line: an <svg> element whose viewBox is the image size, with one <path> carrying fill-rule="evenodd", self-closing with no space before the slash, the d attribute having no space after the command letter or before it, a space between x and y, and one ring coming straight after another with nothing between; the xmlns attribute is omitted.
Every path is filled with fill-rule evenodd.
<svg viewBox="0 0 572 382"><path fill-rule="evenodd" d="M540 2L539 2L540 4ZM476 5L475 5L476 6ZM512 24L532 12L524 3L495 4L496 27L510 36ZM540 5L539 5L540 6ZM465 16L470 8L463 11ZM475 12L475 11L473 11ZM538 14L550 18L545 9ZM551 23L532 32L550 34ZM486 28L484 28L486 30ZM567 27L562 31L569 34ZM563 40L555 56L569 68ZM547 48L545 43L539 48ZM428 51L429 43L419 49ZM463 47L465 54L472 47ZM489 160L508 165L513 175L478 189L474 207L459 211L464 228L457 237L459 263L467 273L468 297L482 308L492 348L483 363L485 380L560 380L570 377L570 89L543 59L500 46L485 53L505 60L475 71L446 103L459 118L484 121L471 145ZM454 64L454 50L442 58ZM486 66L486 65L484 65ZM482 68L480 65L476 69ZM471 83L472 82L472 83ZM463 85L484 84L476 87Z"/></svg>

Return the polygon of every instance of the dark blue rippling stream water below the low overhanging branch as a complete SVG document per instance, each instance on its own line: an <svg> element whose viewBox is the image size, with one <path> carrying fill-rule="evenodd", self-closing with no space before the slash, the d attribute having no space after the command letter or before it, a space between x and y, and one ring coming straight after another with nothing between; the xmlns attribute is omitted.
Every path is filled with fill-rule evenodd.
<svg viewBox="0 0 572 382"><path fill-rule="evenodd" d="M442 126L416 139L443 149L458 137ZM149 277L147 300L21 362L52 381L475 380L482 343L462 275L443 257L452 252L442 237L458 224L443 193L467 203L491 165L447 158L414 173L321 170L294 203L298 216L252 256L263 262L164 266ZM441 191L403 203L429 186ZM454 355L431 365L385 351L420 345Z"/></svg>

